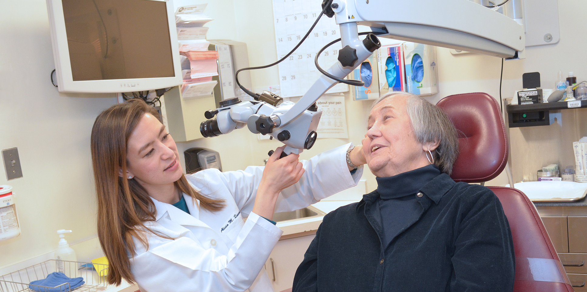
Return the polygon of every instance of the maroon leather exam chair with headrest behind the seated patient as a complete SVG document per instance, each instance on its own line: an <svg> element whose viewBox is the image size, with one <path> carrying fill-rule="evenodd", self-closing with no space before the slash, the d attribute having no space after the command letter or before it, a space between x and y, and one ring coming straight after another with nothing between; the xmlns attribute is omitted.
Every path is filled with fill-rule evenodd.
<svg viewBox="0 0 587 292"><path fill-rule="evenodd" d="M464 93L438 101L459 131L460 154L451 177L486 182L504 170L508 141L500 106L487 93ZM508 218L515 252L515 292L572 292L573 288L534 204L518 189L488 186Z"/></svg>

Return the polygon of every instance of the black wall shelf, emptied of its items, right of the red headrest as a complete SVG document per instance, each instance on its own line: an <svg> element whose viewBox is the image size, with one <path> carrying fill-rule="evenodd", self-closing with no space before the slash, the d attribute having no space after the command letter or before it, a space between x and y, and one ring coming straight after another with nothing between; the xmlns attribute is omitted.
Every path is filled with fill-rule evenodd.
<svg viewBox="0 0 587 292"><path fill-rule="evenodd" d="M587 100L570 100L555 103L508 104L505 110L508 113L510 128L515 128L550 125L554 118L551 118L549 111L585 107Z"/></svg>

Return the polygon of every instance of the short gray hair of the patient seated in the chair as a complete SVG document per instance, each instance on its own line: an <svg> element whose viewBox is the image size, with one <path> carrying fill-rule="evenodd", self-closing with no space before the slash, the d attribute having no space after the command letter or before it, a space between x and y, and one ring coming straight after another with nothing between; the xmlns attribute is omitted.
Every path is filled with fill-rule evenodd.
<svg viewBox="0 0 587 292"><path fill-rule="evenodd" d="M375 100L369 111L372 111L373 107L384 99L395 96L408 97L406 99L407 116L410 118L416 140L422 144L439 142L436 150L432 151L434 165L441 172L450 175L453 172L454 161L458 156L457 130L453 123L448 120L446 113L439 107L415 94L403 91L383 94Z"/></svg>

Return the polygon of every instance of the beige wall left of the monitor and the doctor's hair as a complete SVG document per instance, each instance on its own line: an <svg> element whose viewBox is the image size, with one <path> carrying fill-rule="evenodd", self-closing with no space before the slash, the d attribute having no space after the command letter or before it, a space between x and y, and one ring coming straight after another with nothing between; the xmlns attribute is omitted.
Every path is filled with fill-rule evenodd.
<svg viewBox="0 0 587 292"><path fill-rule="evenodd" d="M64 94L55 68L45 1L4 1L0 11L0 150L18 147L14 186L21 236L0 242L0 267L57 249L58 229L72 243L95 237L90 129L114 94Z"/></svg>

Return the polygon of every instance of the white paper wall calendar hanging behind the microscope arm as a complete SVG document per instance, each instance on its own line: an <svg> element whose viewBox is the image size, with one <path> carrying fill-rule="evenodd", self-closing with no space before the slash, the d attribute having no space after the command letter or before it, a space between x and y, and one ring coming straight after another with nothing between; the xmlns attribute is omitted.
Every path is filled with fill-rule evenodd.
<svg viewBox="0 0 587 292"><path fill-rule="evenodd" d="M275 42L279 59L287 55L316 21L322 1L316 0L273 0L275 24ZM282 97L303 96L312 84L321 76L316 69L314 57L327 43L340 38L339 26L334 18L322 15L308 38L283 62L279 63L279 85ZM330 46L319 57L318 62L324 69L338 62L340 42ZM348 91L346 84L336 84L327 93Z"/></svg>

